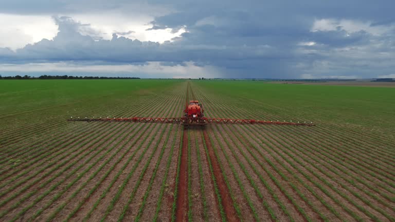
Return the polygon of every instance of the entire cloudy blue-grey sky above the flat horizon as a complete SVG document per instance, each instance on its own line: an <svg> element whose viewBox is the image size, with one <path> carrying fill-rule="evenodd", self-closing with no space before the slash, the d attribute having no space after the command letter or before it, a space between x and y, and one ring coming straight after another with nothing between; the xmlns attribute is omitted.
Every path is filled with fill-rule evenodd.
<svg viewBox="0 0 395 222"><path fill-rule="evenodd" d="M0 75L395 78L393 0L0 0Z"/></svg>

